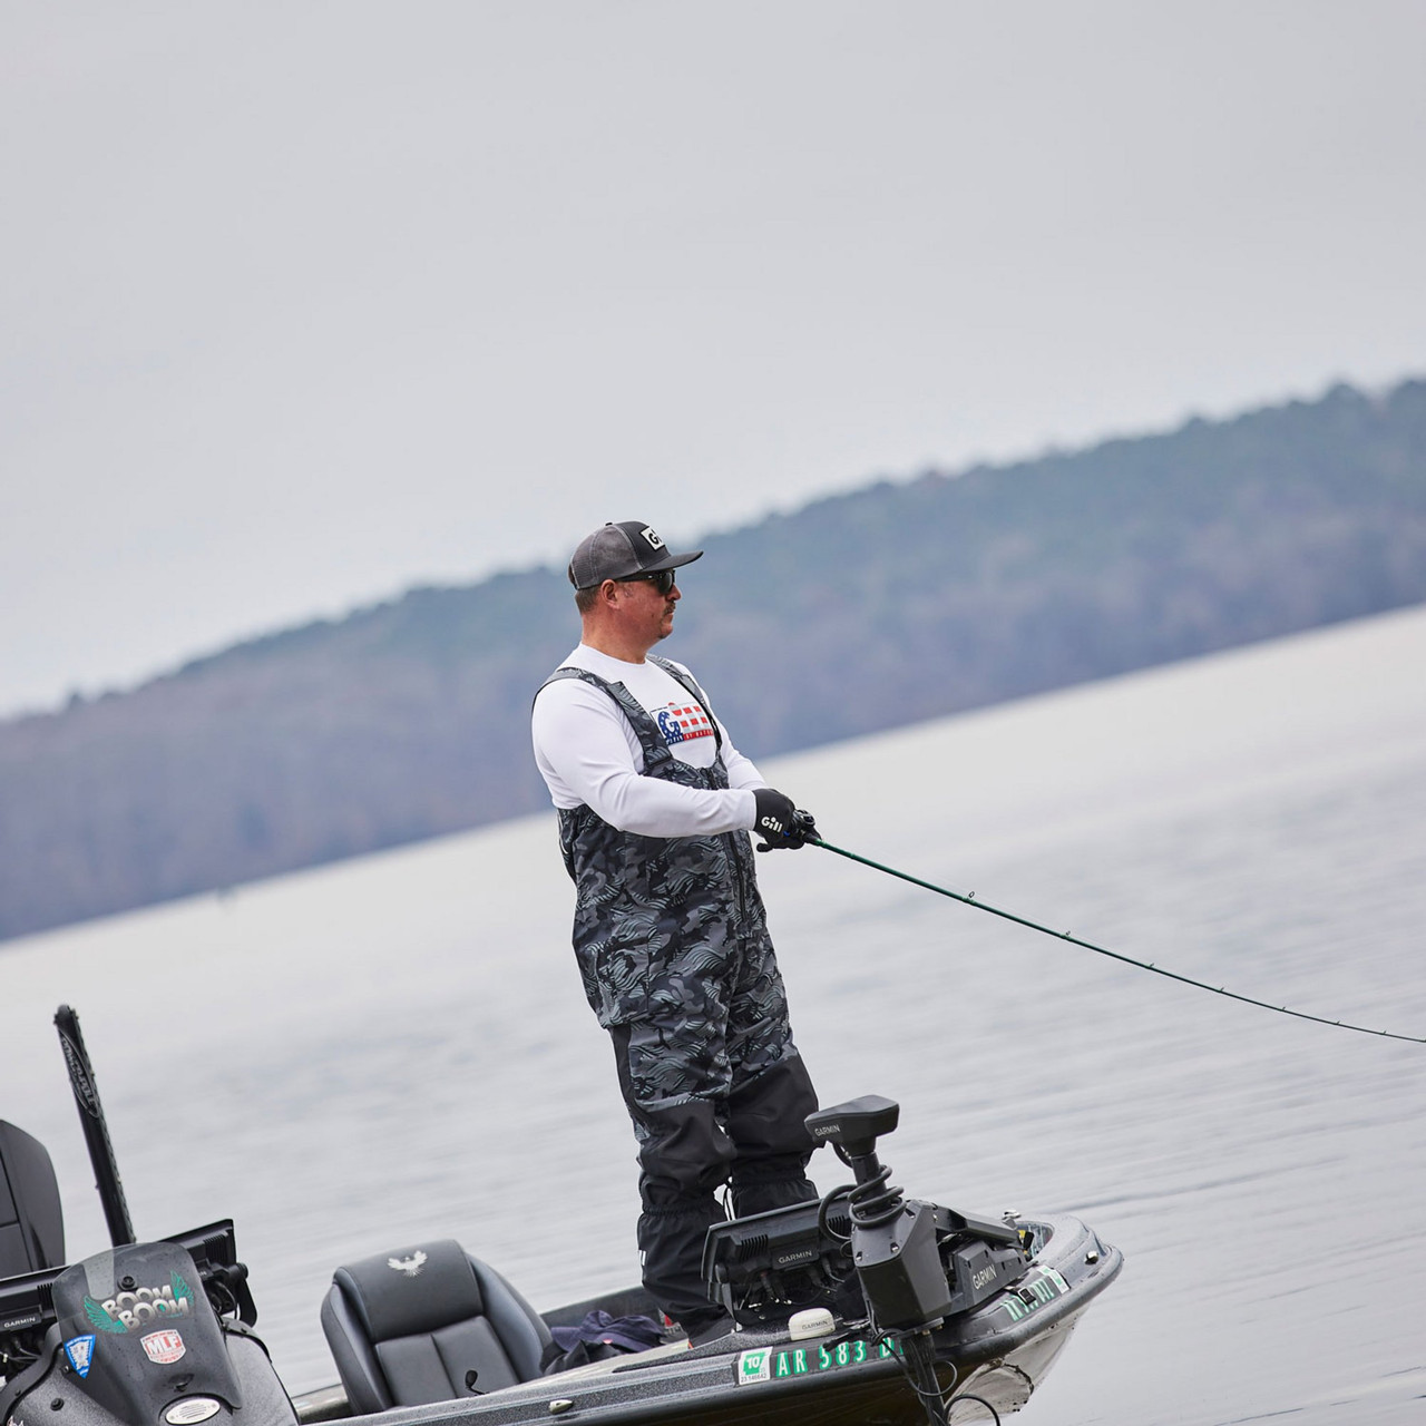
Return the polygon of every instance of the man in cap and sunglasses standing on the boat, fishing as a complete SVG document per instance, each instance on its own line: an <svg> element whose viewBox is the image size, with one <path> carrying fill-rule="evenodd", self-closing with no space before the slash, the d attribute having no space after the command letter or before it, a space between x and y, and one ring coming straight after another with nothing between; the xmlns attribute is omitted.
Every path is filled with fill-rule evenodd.
<svg viewBox="0 0 1426 1426"><path fill-rule="evenodd" d="M732 1328L703 1285L703 1238L732 1182L739 1215L817 1196L803 1119L817 1095L793 1045L757 894L759 850L813 821L733 747L682 665L676 555L640 520L605 525L569 565L579 647L535 697L535 759L575 881L575 955L613 1038L639 1142L645 1286L694 1343Z"/></svg>

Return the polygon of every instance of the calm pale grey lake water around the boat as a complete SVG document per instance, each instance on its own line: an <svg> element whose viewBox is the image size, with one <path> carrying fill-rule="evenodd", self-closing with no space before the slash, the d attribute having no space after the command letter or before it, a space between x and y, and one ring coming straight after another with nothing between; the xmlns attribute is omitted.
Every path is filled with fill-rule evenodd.
<svg viewBox="0 0 1426 1426"><path fill-rule="evenodd" d="M864 857L1426 1035L1426 610L763 770ZM1077 1214L1125 1252L1017 1419L1426 1416L1426 1045L819 848L760 870L823 1104L901 1104L896 1182ZM50 1148L70 1256L107 1238L61 1001L138 1233L237 1219L294 1390L335 1380L318 1308L356 1256L453 1236L536 1306L635 1281L633 1141L570 904L550 814L0 947L0 1117ZM811 1172L846 1179L826 1152Z"/></svg>

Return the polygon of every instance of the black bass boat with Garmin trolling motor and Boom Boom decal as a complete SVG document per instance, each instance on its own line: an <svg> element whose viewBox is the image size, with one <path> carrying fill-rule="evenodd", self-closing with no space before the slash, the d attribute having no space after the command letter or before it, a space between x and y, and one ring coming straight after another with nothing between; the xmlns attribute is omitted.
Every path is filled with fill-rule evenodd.
<svg viewBox="0 0 1426 1426"><path fill-rule="evenodd" d="M292 1396L231 1219L134 1241L77 1017L56 1024L113 1248L66 1265L48 1154L0 1121L0 1426L998 1422L1122 1265L1071 1216L907 1198L877 1152L900 1111L866 1095L807 1121L850 1184L709 1231L723 1336L690 1345L637 1288L540 1313L455 1241L402 1243L335 1269L341 1385Z"/></svg>

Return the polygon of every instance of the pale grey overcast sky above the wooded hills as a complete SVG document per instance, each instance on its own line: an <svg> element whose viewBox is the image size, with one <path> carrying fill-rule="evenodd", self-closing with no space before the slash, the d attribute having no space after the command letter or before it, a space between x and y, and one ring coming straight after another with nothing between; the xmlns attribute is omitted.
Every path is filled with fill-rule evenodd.
<svg viewBox="0 0 1426 1426"><path fill-rule="evenodd" d="M0 0L0 714L1426 375L1423 57L1419 0Z"/></svg>

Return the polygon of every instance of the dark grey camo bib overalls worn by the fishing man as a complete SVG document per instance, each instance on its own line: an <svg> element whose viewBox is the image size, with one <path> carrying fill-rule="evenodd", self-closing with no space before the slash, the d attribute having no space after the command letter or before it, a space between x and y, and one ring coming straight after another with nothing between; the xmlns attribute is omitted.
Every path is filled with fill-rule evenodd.
<svg viewBox="0 0 1426 1426"><path fill-rule="evenodd" d="M707 714L712 766L674 757L622 683L575 667L549 682L582 679L607 693L639 740L645 777L726 789L703 690L666 659L650 662ZM793 1044L752 841L746 831L643 837L582 804L559 810L559 844L575 883L585 994L613 1038L639 1141L645 1285L690 1328L713 1310L700 1256L707 1225L723 1216L716 1188L732 1179L739 1214L817 1196L803 1125L817 1095Z"/></svg>

